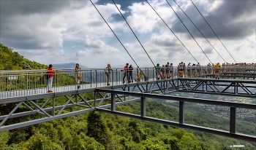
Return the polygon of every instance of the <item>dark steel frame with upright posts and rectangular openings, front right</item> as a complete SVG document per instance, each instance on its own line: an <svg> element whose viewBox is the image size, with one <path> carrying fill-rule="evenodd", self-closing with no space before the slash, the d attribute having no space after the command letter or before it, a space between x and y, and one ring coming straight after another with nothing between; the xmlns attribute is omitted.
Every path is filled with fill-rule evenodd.
<svg viewBox="0 0 256 150"><path fill-rule="evenodd" d="M127 91L118 91L118 90L106 90L106 89L96 89L97 92L105 92L110 93L113 97L111 98L111 109L105 109L97 107L96 111L101 111L109 114L116 114L123 117L129 117L134 119L141 119L148 122L155 122L162 125L169 125L172 127L181 127L189 130L196 130L204 133L211 133L215 135L222 135L230 138L238 138L246 141L256 141L256 136L254 135L245 135L241 133L236 133L236 108L249 108L256 110L256 104L248 104L248 103L234 103L227 102L222 100L208 100L201 98L184 98L178 96L170 96L170 95L158 95L151 93L138 93L138 92L127 92ZM129 114L121 111L116 111L116 98L115 95L130 95L136 97L136 99L140 99L140 115L137 114ZM179 102L179 122L173 122L165 119L157 119L152 117L146 117L146 98L159 98L164 100L175 100ZM209 127L202 127L197 125L189 125L184 123L184 105L185 103L205 103L210 105L217 106L227 106L230 107L230 130L217 130Z"/></svg>

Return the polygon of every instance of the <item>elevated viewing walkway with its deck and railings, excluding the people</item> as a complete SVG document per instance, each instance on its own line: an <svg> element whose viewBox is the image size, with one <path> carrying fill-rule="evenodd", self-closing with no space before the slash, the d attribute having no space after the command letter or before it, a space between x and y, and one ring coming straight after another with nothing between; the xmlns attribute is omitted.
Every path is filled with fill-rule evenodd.
<svg viewBox="0 0 256 150"><path fill-rule="evenodd" d="M135 82L136 75L143 71L145 76L140 82ZM178 76L178 68L173 67L173 77L159 77L157 79L154 68L134 68L132 71L132 81L129 83L125 78L123 83L123 68L113 68L110 74L110 86L107 87L107 76L105 69L92 68L82 69L83 79L80 81L80 89L75 82L75 71L70 69L56 70L53 76L53 92L68 92L76 90L87 90L98 87L107 87L116 89L120 87L132 87L134 84L145 84L143 82L167 82L167 81L194 81L194 82L211 82L211 84L222 83L244 83L255 84L256 67L240 67L240 68L221 68L220 79L214 78L214 70L216 68L200 67L186 68L182 77ZM190 74L188 74L190 72ZM0 100L5 98L16 98L30 95L42 95L47 93L47 79L45 79L45 70L24 70L24 71L0 71ZM159 75L158 75L159 76ZM166 76L166 74L164 74ZM190 87L191 88L191 87ZM188 89L188 88L187 88ZM191 88L192 90L192 88ZM252 93L253 95L253 93Z"/></svg>

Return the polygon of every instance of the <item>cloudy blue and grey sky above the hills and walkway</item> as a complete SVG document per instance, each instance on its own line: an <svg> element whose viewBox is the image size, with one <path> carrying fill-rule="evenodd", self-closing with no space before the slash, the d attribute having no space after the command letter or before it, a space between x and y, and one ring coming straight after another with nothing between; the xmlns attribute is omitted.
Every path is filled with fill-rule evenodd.
<svg viewBox="0 0 256 150"><path fill-rule="evenodd" d="M165 25L146 1L115 0L141 46L112 0L93 0L140 67L167 62L178 66L181 61L203 66L210 61L256 63L255 0L192 0L223 44L192 1L176 0L208 42L178 5L167 1L148 0ZM24 58L46 65L135 66L99 12L89 0L0 0L0 43Z"/></svg>

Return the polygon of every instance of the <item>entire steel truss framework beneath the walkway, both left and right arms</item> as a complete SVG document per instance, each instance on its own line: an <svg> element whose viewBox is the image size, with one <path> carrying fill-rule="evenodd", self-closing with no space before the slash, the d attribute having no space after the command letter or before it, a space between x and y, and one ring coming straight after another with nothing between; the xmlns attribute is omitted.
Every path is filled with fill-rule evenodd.
<svg viewBox="0 0 256 150"><path fill-rule="evenodd" d="M213 79L181 78L157 80L151 82L138 82L132 84L121 84L86 90L54 92L42 95L29 95L18 98L6 98L0 100L0 105L6 103L17 104L15 108L13 108L12 111L9 112L9 114L0 116L0 132L5 130L12 130L19 127L26 127L29 125L36 125L54 119L61 119L64 117L71 117L78 114L84 114L90 111L102 111L105 113L116 114L135 119L143 119L148 122L156 122L163 125L170 125L173 127L183 127L185 129L223 135L231 138L239 138L246 141L255 141L255 136L236 133L236 108L256 109L255 104L233 103L219 100L183 98L178 96L165 95L168 92L200 92L206 94L233 95L255 98L255 93L253 93L251 90L252 88L255 89L255 84L256 82L246 81L242 82L222 80L222 82L216 82L216 80ZM220 90L219 86L225 87L225 89ZM229 89L230 87L233 87L235 89L234 92L227 92L227 89ZM244 90L244 92L241 92L241 90ZM89 92L94 92L94 100L86 100L85 96ZM64 105L56 106L56 98L61 96L64 96L67 99L67 101ZM38 102L40 102L40 99L42 98L46 98L46 100L43 104L39 105ZM146 117L146 98L160 98L165 100L178 101L179 122ZM116 111L116 106L123 105L126 103L132 103L135 101L140 101L141 103L140 115L127 114L124 112ZM208 127L200 127L196 125L185 124L184 103L187 102L206 103L211 105L230 107L230 131L217 130ZM20 106L25 106L27 108L27 111L15 113L15 111L17 111L17 109ZM48 108L45 108L45 106L48 106ZM80 106L81 110L64 113L64 110L66 108L72 108L75 106ZM8 119L26 117L31 114L42 114L42 118L30 120L27 122L18 122L12 125L5 125Z"/></svg>

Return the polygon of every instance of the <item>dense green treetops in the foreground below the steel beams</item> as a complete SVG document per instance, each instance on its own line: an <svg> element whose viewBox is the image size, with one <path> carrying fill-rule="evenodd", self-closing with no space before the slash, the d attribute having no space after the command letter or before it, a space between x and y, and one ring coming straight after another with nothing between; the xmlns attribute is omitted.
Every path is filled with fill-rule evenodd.
<svg viewBox="0 0 256 150"><path fill-rule="evenodd" d="M86 98L92 97L92 94ZM61 98L59 98L61 100ZM64 103L59 101L59 103ZM148 116L176 120L178 108L147 100ZM117 111L138 113L140 103L117 106ZM74 109L74 110L71 110ZM75 111L79 108L69 108ZM167 111L171 113L167 114ZM162 116L162 114L164 116ZM209 116L209 117L212 117ZM194 120L191 117L189 120ZM203 123L206 121L202 120ZM0 133L0 149L255 149L238 141L181 128L168 127L113 114L91 112Z"/></svg>

